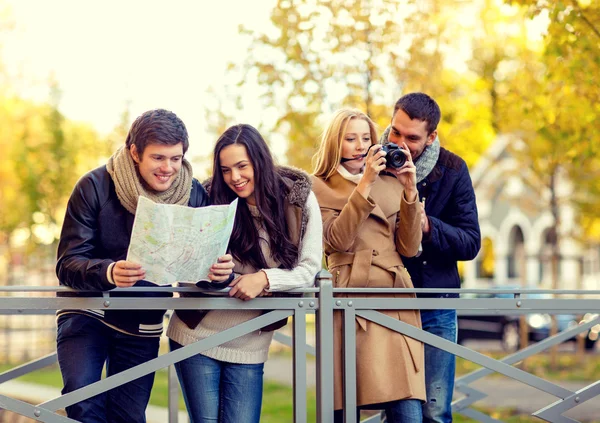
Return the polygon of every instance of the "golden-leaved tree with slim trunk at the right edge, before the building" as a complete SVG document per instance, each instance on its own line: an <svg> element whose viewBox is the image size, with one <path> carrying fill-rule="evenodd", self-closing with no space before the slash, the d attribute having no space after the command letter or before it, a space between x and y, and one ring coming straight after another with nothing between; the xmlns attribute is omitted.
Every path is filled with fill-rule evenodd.
<svg viewBox="0 0 600 423"><path fill-rule="evenodd" d="M591 238L563 229L561 205L576 207L580 227L598 225L600 137L595 127L600 118L600 4L584 0L511 3L522 5L530 17L548 22L541 60L522 61L512 69L502 101L505 130L519 134L524 141L516 144L520 148L514 156L541 182L540 198L547 198L552 214L548 240L552 288L558 289L561 240ZM562 195L561 180L572 181L572 189ZM553 316L551 334L556 332ZM583 343L580 346L583 350ZM556 368L556 348L551 363Z"/></svg>

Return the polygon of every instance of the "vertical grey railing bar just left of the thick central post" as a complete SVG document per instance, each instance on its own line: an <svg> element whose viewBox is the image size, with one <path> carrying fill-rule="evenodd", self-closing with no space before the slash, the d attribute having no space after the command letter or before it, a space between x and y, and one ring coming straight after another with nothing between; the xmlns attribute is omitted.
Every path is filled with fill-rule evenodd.
<svg viewBox="0 0 600 423"><path fill-rule="evenodd" d="M306 423L306 312L304 308L297 309L294 314L293 366L294 423Z"/></svg>

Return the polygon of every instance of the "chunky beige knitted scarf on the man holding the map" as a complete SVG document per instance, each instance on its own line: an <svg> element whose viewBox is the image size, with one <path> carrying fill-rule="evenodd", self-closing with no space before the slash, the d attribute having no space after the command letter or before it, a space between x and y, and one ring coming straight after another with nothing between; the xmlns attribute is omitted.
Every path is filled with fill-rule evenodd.
<svg viewBox="0 0 600 423"><path fill-rule="evenodd" d="M144 186L136 163L125 146L120 147L108 159L106 170L115 183L119 201L131 214L135 214L140 195L160 204L187 206L190 201L193 173L192 166L185 159L183 159L181 170L173 184L168 190L162 192L154 192Z"/></svg>

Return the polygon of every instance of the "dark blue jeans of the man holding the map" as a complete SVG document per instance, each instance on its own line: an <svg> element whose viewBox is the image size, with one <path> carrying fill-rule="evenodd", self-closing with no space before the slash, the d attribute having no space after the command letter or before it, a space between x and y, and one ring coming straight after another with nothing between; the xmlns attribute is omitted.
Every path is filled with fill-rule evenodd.
<svg viewBox="0 0 600 423"><path fill-rule="evenodd" d="M63 394L130 369L158 356L159 338L127 335L83 314L58 318L56 336ZM67 407L71 419L85 423L146 421L154 373Z"/></svg>

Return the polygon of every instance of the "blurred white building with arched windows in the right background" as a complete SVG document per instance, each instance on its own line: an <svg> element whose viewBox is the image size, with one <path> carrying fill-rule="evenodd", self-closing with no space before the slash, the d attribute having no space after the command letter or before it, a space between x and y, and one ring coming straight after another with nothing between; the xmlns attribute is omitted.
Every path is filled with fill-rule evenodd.
<svg viewBox="0 0 600 423"><path fill-rule="evenodd" d="M510 143L522 141L498 137L471 170L477 196L482 248L477 258L465 263L464 288L521 286L552 288L550 244L554 219L549 209L550 192L540 189L539 179L512 156ZM518 145L518 144L517 144ZM571 185L562 178L558 198L568 198ZM600 247L584 249L575 213L559 202L559 289L600 289Z"/></svg>

